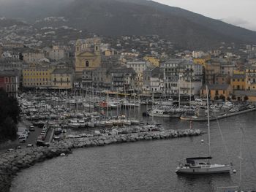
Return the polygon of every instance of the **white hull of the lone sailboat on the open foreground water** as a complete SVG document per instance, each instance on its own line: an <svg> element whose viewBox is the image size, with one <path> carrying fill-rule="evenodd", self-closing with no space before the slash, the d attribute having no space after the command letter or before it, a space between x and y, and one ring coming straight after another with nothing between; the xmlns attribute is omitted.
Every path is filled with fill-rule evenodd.
<svg viewBox="0 0 256 192"><path fill-rule="evenodd" d="M207 166L178 166L176 174L230 174L231 167L229 165L211 164Z"/></svg>

